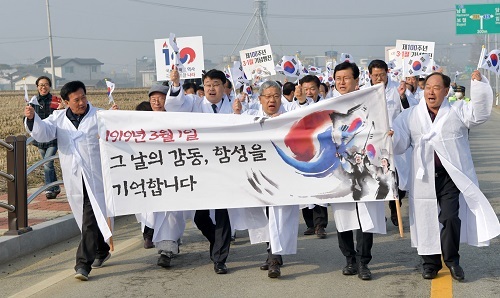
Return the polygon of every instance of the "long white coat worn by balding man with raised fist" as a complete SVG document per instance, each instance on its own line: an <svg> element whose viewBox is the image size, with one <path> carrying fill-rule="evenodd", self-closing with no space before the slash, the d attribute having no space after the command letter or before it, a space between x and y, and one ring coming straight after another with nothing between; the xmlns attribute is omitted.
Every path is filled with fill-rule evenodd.
<svg viewBox="0 0 500 298"><path fill-rule="evenodd" d="M445 99L434 122L424 98L394 121L394 152L413 147L409 215L412 246L420 255L441 253L434 151L461 192L461 242L486 246L500 234L498 218L478 187L468 138L468 129L489 118L492 104L493 92L483 76L481 81L471 81L470 102L450 106Z"/></svg>

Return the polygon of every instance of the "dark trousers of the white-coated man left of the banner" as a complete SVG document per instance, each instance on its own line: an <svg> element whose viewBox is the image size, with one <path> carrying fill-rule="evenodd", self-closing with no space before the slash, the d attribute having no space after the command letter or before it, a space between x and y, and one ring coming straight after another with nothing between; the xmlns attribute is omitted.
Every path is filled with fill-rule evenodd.
<svg viewBox="0 0 500 298"><path fill-rule="evenodd" d="M83 184L82 238L76 251L75 270L83 268L90 272L94 260L103 259L108 253L109 245L104 241L101 230L99 230L87 189Z"/></svg>

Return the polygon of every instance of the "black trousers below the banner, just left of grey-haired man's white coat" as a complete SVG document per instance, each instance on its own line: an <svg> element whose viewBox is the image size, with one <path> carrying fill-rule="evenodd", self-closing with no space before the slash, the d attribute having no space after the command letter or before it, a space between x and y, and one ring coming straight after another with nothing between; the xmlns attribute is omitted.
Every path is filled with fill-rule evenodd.
<svg viewBox="0 0 500 298"><path fill-rule="evenodd" d="M194 222L203 236L210 242L210 258L216 263L225 263L231 244L231 222L227 209L215 210L215 224L209 210L196 210Z"/></svg>

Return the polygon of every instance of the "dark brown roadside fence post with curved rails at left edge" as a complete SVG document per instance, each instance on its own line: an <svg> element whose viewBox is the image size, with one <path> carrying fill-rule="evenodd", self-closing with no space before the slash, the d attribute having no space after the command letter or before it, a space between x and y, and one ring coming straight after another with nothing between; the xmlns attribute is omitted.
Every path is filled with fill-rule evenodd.
<svg viewBox="0 0 500 298"><path fill-rule="evenodd" d="M7 150L7 171L0 171L0 177L7 180L7 203L0 202L0 208L7 209L8 231L4 235L19 235L32 230L28 226L28 204L44 190L63 184L61 180L44 185L28 197L28 174L45 163L57 159L58 155L42 159L27 168L26 146L33 139L24 135L8 136L0 140L0 149Z"/></svg>

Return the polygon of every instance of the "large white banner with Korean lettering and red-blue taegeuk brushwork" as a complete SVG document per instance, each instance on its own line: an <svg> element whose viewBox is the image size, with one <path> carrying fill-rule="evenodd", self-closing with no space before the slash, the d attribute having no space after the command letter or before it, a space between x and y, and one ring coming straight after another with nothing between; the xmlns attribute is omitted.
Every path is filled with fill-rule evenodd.
<svg viewBox="0 0 500 298"><path fill-rule="evenodd" d="M99 111L112 216L394 199L383 85L275 118Z"/></svg>

